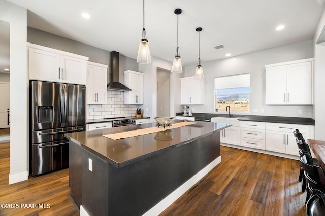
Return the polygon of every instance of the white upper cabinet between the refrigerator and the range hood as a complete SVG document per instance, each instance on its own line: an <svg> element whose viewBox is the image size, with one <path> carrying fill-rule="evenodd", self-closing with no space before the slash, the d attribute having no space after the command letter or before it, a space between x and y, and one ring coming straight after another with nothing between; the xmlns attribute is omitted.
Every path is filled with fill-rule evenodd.
<svg viewBox="0 0 325 216"><path fill-rule="evenodd" d="M106 104L107 65L88 62L87 104Z"/></svg>

